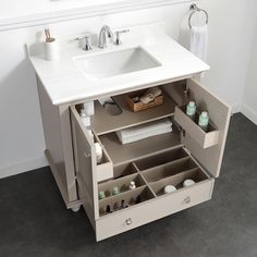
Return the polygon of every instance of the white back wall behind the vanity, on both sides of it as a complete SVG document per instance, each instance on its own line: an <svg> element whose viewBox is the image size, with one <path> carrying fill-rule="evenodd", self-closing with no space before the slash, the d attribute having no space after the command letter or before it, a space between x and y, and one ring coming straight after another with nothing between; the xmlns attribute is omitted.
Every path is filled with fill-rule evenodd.
<svg viewBox="0 0 257 257"><path fill-rule="evenodd" d="M211 71L204 83L229 103L241 105L253 45L256 0L205 0L209 15ZM236 2L236 5L235 5ZM185 42L188 3L102 15L52 24L56 36L166 21L168 34ZM232 13L233 12L233 13ZM36 40L44 26L0 33L0 178L47 164L35 75L24 44ZM139 40L139 39L138 39Z"/></svg>

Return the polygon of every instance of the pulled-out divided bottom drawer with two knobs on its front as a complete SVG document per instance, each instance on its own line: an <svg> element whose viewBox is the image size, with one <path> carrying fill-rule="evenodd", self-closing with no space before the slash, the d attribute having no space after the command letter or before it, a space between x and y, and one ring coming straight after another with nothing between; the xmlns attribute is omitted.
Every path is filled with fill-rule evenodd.
<svg viewBox="0 0 257 257"><path fill-rule="evenodd" d="M167 159L167 163L159 163L139 170L136 162L133 167L137 169L137 174L127 174L125 178L103 182L100 184L101 189L109 191L113 184L123 185L132 179L132 176L140 176L138 187L133 191L124 191L119 195L109 196L99 201L100 217L96 220L97 241L105 240L112 235L128 231L166 216L172 215L180 210L198 205L211 198L215 179L205 173L198 164L189 157L183 157L180 151L183 149L174 149L174 152L163 152L162 160L173 154L179 159ZM184 152L186 155L186 152ZM143 163L138 161L138 163ZM140 166L143 168L143 166ZM144 168L143 168L144 169ZM194 180L195 184L183 187L183 182L187 179ZM123 182L121 182L123 180ZM144 184L144 182L145 184ZM176 186L178 191L164 194L163 188L167 185ZM140 197L140 201L136 199ZM120 208L124 201L125 208ZM113 212L107 212L106 209Z"/></svg>

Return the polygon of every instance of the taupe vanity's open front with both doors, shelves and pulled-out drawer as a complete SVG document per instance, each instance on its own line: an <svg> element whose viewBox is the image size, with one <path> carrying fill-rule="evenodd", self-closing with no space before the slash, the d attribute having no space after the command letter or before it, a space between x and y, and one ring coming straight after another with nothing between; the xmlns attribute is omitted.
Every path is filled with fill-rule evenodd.
<svg viewBox="0 0 257 257"><path fill-rule="evenodd" d="M215 178L220 172L231 109L193 79L162 88L171 102L169 111L159 106L152 112L149 109L128 113L120 101L122 98L113 97L123 112L121 117L110 117L110 122L106 123L108 115L103 107L95 102L99 110L96 108L90 126L94 137L79 118L79 105L71 106L78 198L95 229L97 241L211 198ZM200 131L194 121L187 119L183 109L185 90L187 98L196 101L199 111L208 111L208 132ZM119 143L115 131L167 118L172 119L171 133L127 145ZM96 163L96 142L103 149L103 163ZM99 181L99 170L105 172L99 166L112 169L113 178ZM183 186L187 179L195 184ZM128 188L131 181L136 182L136 188ZM167 185L175 186L176 191L164 194ZM113 186L120 188L119 194L111 193ZM100 192L106 192L103 199L98 198Z"/></svg>

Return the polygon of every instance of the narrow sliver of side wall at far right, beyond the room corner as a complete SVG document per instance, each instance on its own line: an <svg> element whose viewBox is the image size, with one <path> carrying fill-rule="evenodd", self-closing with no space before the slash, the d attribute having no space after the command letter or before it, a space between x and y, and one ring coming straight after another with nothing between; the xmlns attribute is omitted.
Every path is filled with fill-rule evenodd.
<svg viewBox="0 0 257 257"><path fill-rule="evenodd" d="M252 59L247 73L246 87L242 105L242 112L257 125L257 23L255 41L252 49Z"/></svg>

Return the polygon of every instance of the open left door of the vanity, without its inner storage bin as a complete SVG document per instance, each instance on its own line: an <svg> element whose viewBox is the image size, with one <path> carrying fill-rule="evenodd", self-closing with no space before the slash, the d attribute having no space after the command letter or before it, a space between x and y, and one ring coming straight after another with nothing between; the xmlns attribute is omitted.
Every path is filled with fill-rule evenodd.
<svg viewBox="0 0 257 257"><path fill-rule="evenodd" d="M71 120L78 195L95 228L99 211L94 139L89 136L74 106L71 107Z"/></svg>

